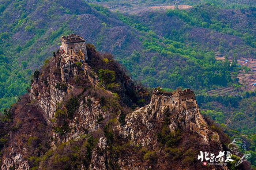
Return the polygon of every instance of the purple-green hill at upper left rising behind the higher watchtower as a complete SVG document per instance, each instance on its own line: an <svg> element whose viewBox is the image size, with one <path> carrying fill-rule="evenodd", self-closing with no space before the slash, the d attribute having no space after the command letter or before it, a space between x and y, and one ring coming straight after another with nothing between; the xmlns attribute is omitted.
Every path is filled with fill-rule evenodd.
<svg viewBox="0 0 256 170"><path fill-rule="evenodd" d="M26 92L31 73L42 65L46 58L52 56L53 51L58 48L57 43L61 35L76 32L86 37L87 42L96 42L102 39L103 35L108 36L113 42L108 49L102 49L105 51L111 51L111 48L117 46L115 39L120 38L120 34L128 36L127 41L136 42L136 37L129 33L129 28L116 19L115 15L111 14L110 18L102 15L82 0L72 3L57 0L1 0L0 4L2 111ZM114 35L117 31L119 33ZM133 49L132 46L136 46L132 43L130 48L127 43L125 45L128 55Z"/></svg>

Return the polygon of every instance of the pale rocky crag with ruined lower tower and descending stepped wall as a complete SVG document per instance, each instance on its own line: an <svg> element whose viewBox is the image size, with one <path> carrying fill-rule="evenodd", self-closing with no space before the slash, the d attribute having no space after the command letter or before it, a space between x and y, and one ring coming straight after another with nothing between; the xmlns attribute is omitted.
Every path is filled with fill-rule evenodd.
<svg viewBox="0 0 256 170"><path fill-rule="evenodd" d="M137 109L126 116L126 124L123 127L118 127L122 138L129 137L134 145L140 144L143 147L149 147L154 150L159 147L155 129L157 129L161 120L165 117L170 117L170 132L174 132L177 129L190 130L201 136L199 140L207 144L212 153L223 151L219 135L209 130L199 111L196 100L182 101L180 105L177 105L177 102L174 102L176 104L166 105L161 102L162 96L165 96L163 93L158 92L157 88L155 88L149 105ZM222 168L226 169L225 166Z"/></svg>

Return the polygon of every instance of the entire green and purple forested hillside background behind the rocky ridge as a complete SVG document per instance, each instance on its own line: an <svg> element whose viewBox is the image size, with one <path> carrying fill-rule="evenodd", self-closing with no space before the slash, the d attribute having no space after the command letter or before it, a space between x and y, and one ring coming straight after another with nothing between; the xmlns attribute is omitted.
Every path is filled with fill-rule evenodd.
<svg viewBox="0 0 256 170"><path fill-rule="evenodd" d="M113 53L135 80L150 88L195 90L205 115L237 130L228 129L231 136L248 135L255 154L255 92L243 89L237 75L249 69L236 62L256 58L255 1L184 0L178 4L192 8L135 14L98 3L110 7L117 1L0 0L2 112L26 93L31 75L57 50L60 36L75 33L97 50ZM121 7L175 3L124 1ZM216 55L226 59L219 61ZM205 93L225 87L243 98Z"/></svg>

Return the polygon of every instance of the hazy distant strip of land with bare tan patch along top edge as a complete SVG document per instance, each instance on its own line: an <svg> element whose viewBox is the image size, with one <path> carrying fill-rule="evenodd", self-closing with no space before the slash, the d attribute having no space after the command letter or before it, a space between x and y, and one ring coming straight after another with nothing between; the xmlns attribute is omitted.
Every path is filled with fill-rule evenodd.
<svg viewBox="0 0 256 170"><path fill-rule="evenodd" d="M255 7L255 0L88 0L90 3L96 3L109 8L111 11L122 13L139 13L148 11L148 7L168 7L168 8L190 8L195 5L209 3L217 8L240 9Z"/></svg>

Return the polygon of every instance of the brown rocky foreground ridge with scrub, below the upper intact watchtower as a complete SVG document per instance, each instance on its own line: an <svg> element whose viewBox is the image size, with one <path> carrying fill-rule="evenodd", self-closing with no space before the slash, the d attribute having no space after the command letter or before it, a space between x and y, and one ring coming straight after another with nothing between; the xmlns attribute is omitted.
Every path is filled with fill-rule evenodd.
<svg viewBox="0 0 256 170"><path fill-rule="evenodd" d="M89 50L89 60L90 55ZM24 127L26 122L14 118L12 126L20 122L20 128L10 134L18 136L24 148L15 150L14 140L10 139L1 169L169 169L177 165L180 169L193 169L199 166L196 149L222 150L219 135L208 128L193 92L189 91L191 98L187 97L188 90L178 92L177 95L187 96L185 100L178 96L177 102L176 94L173 97L174 94L155 88L150 104L131 112L125 102L136 105L134 96L142 101L145 90L137 88L128 96L124 91L134 88L131 79L121 71L112 71L112 60L104 56L94 61L104 63L101 67L105 69L92 69L90 61L81 62L79 56L58 53L38 76L34 75L25 105L41 117L39 123L46 122L47 135L42 138L41 130L31 132ZM118 76L122 78L113 81ZM13 116L20 112L17 108L24 104L22 101L12 109ZM33 119L33 114L28 116ZM36 126L31 121L27 125ZM26 136L18 135L24 131ZM175 152L192 154L189 156L194 163L175 156ZM166 167L171 160L173 165Z"/></svg>

